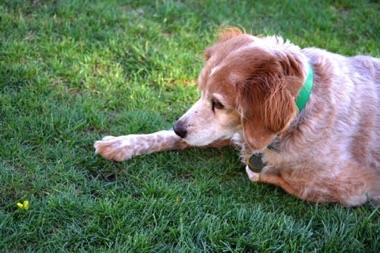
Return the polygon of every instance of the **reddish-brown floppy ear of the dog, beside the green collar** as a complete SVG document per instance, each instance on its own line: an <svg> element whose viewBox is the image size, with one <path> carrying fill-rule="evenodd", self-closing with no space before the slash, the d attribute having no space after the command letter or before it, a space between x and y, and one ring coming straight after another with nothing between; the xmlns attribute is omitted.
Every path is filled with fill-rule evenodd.
<svg viewBox="0 0 380 253"><path fill-rule="evenodd" d="M286 73L283 61L268 53L255 54L247 64L249 72L236 86L236 104L247 142L262 151L296 116L295 96L302 83Z"/></svg>

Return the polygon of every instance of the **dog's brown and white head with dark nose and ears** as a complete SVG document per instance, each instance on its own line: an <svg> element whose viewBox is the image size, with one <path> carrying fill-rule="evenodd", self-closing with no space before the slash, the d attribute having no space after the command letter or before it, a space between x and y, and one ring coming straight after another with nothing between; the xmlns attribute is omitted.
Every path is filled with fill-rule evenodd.
<svg viewBox="0 0 380 253"><path fill-rule="evenodd" d="M205 58L198 78L201 98L174 131L193 146L243 132L252 149L265 149L298 112L295 99L307 71L299 48L280 37L229 29Z"/></svg>

